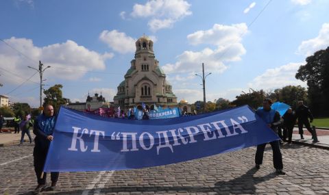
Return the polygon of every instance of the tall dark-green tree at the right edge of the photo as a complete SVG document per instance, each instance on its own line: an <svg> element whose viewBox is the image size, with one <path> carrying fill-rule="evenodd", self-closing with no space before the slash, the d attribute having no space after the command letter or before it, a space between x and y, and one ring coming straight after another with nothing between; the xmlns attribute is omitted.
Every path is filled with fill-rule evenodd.
<svg viewBox="0 0 329 195"><path fill-rule="evenodd" d="M306 57L296 79L307 81L310 109L315 116L329 116L329 47Z"/></svg>

